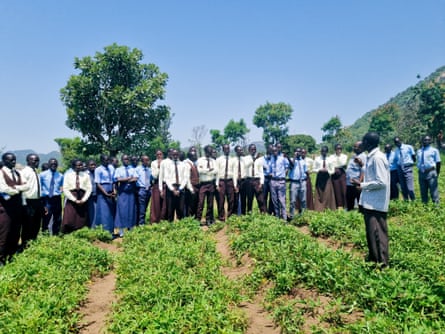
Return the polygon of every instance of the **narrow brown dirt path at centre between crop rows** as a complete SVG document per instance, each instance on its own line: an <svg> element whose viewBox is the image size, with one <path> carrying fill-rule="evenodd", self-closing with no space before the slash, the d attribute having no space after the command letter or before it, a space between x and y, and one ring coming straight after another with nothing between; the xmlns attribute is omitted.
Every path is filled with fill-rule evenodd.
<svg viewBox="0 0 445 334"><path fill-rule="evenodd" d="M221 254L225 265L222 272L229 279L235 280L243 275L248 275L253 270L253 262L248 256L241 259L241 265L237 265L236 259L231 253L229 239L226 234L227 227L215 233L216 250ZM245 310L248 318L246 334L279 334L280 328L275 326L271 315L261 305L262 295L256 295L252 301L244 302L240 306Z"/></svg>

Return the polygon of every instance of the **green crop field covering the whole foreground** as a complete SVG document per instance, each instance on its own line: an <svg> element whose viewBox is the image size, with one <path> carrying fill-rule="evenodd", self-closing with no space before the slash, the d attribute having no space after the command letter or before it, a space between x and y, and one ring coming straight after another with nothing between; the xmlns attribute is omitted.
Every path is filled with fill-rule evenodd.
<svg viewBox="0 0 445 334"><path fill-rule="evenodd" d="M357 211L307 211L290 224L251 214L210 229L193 219L143 226L117 253L98 246L116 242L101 230L42 235L0 268L0 332L83 333L89 284L110 271L106 333L255 333L247 303L273 324L263 333L445 332L443 206L395 201L388 221L384 270L364 261Z"/></svg>

